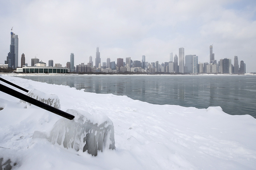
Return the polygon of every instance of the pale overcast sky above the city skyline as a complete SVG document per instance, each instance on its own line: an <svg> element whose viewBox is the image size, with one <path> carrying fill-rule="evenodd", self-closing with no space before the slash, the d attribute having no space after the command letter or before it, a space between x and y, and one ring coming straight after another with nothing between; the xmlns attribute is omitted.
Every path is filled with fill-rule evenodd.
<svg viewBox="0 0 256 170"><path fill-rule="evenodd" d="M0 0L0 63L10 51L10 29L19 36L21 54L66 66L88 63L99 47L101 63L107 58L131 57L147 62L170 61L196 54L209 63L234 56L256 72L256 0Z"/></svg>

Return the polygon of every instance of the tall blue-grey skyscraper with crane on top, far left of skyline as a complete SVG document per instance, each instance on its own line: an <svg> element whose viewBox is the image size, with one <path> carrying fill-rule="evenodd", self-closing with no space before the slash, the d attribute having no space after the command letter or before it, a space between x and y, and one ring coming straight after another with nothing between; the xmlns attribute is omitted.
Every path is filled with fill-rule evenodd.
<svg viewBox="0 0 256 170"><path fill-rule="evenodd" d="M12 29L11 29L12 30ZM10 44L10 52L7 56L8 67L16 69L18 66L18 48L19 48L19 38L18 35L15 35L11 32L11 44Z"/></svg>

